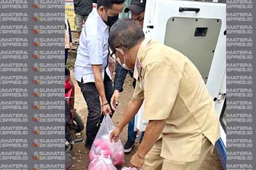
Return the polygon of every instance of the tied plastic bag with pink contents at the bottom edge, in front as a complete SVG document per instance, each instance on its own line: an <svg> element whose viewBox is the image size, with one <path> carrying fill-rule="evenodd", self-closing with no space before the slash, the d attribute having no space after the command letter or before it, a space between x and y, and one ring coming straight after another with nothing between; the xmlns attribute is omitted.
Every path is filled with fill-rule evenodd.
<svg viewBox="0 0 256 170"><path fill-rule="evenodd" d="M91 161L88 170L117 170L117 168L113 165L110 156L106 158L102 155Z"/></svg>

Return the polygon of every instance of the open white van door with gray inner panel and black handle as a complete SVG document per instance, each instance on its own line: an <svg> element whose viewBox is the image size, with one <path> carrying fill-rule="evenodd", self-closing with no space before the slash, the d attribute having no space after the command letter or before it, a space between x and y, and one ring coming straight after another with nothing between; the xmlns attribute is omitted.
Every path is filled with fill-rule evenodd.
<svg viewBox="0 0 256 170"><path fill-rule="evenodd" d="M226 169L226 4L214 2L147 0L143 31L182 52L201 73L220 119L216 150Z"/></svg>

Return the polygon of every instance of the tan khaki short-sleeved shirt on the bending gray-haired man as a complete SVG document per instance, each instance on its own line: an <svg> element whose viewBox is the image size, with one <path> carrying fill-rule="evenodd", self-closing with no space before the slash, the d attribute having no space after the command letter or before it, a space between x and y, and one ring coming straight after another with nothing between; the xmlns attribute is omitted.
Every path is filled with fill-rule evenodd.
<svg viewBox="0 0 256 170"><path fill-rule="evenodd" d="M217 112L201 74L182 53L153 40L143 41L137 57L142 68L136 61L133 98L144 99L143 119L166 119L161 157L197 160L202 135L212 145L220 137Z"/></svg>

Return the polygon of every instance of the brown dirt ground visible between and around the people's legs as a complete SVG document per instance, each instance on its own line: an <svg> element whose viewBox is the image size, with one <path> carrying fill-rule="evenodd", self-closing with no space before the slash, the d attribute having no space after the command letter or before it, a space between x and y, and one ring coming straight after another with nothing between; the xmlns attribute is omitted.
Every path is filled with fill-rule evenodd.
<svg viewBox="0 0 256 170"><path fill-rule="evenodd" d="M73 41L74 37L76 37L76 33L72 33ZM76 45L74 45L74 48L76 48ZM83 119L83 122L85 124L86 128L86 121L87 121L87 105L85 103L85 100L83 98L82 92L80 91L80 87L78 86L76 79L74 78L74 60L76 58L76 52L71 51L69 52L69 59L67 66L70 67L70 74L71 79L75 85L75 102L74 102L74 108L80 114L80 117ZM114 78L114 77L113 77ZM134 91L132 87L132 79L130 76L126 76L126 80L124 82L124 91L120 93L119 95L119 106L117 110L115 111L113 115L113 122L115 125L117 125L124 114L125 107L132 97L132 93ZM83 139L86 139L85 136L85 130L82 132ZM124 145L125 141L127 139L127 126L124 128L122 134L121 134L121 141ZM136 140L138 141L138 140ZM139 143L137 142L130 154L125 155L126 163L124 166L129 167L130 159L135 153L139 146ZM85 148L85 143L80 143L73 146L72 149L72 156L73 156L73 165L69 168L69 170L87 170L88 165L90 163L89 161L89 150ZM122 166L117 166L118 170L122 169ZM219 158L217 154L214 152L213 155L208 154L206 156L206 159L202 163L202 166L200 170L223 170L221 163L219 161Z"/></svg>

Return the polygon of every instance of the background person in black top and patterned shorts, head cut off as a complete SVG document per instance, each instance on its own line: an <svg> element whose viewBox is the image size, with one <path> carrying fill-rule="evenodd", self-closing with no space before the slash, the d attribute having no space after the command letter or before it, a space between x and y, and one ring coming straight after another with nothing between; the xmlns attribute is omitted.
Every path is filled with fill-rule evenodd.
<svg viewBox="0 0 256 170"><path fill-rule="evenodd" d="M76 31L78 32L78 40L80 39L83 21L87 20L88 15L93 9L93 0L74 0L74 11L76 14Z"/></svg>

